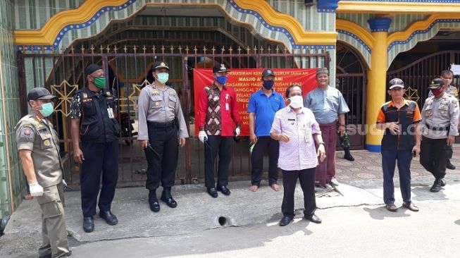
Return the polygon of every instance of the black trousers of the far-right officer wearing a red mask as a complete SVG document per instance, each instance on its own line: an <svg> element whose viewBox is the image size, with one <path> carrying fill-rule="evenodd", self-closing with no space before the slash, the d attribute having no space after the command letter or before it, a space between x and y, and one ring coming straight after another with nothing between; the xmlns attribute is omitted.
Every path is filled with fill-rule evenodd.
<svg viewBox="0 0 460 258"><path fill-rule="evenodd" d="M447 145L447 140L422 136L420 149L420 164L436 179L444 178L449 151L452 151L452 147Z"/></svg>

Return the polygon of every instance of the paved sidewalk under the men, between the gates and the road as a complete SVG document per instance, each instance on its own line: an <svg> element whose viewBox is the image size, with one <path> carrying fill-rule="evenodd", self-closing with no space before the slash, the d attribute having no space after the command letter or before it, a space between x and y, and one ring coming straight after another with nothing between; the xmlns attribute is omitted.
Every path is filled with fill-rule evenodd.
<svg viewBox="0 0 460 258"><path fill-rule="evenodd" d="M454 154L460 153L456 146ZM371 207L368 214L375 219L387 216L383 205L383 190L380 168L380 154L366 151L353 152L356 161L341 159L337 153L337 176L342 184L338 187L342 195L317 197L318 215L328 214L337 207ZM459 155L456 155L458 157ZM460 166L459 159L452 163ZM427 176L414 160L412 193L414 203L460 200L460 172L448 171L447 185L442 192L429 192L433 177ZM429 175L429 173L428 173ZM395 178L395 185L398 185ZM219 195L214 199L206 194L204 185L180 185L173 188L178 202L176 209L161 203L161 211L153 213L147 203L147 190L144 188L117 189L112 211L120 223L108 226L98 216L95 217L95 230L85 233L82 230L80 192L66 192L66 219L70 235L70 246L75 250L80 245L106 240L128 238L161 238L165 235L187 235L202 233L209 229L229 226L251 227L265 223L276 223L281 218L280 206L282 190L275 192L263 182L257 192L248 190L249 182L232 182L229 185L232 195ZM159 191L158 191L159 193ZM397 204L401 204L399 190L395 190ZM302 190L296 190L296 212L302 216ZM377 209L375 209L377 208ZM24 201L13 213L0 238L0 257L36 257L41 240L41 223L38 205L35 200ZM77 254L74 252L75 255ZM79 256L82 257L82 256Z"/></svg>

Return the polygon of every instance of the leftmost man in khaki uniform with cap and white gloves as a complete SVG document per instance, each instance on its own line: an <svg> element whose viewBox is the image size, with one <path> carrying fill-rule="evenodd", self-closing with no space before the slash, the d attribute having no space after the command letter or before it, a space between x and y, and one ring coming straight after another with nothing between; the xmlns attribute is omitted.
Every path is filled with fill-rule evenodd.
<svg viewBox="0 0 460 258"><path fill-rule="evenodd" d="M59 138L46 120L54 111L48 90L37 87L27 94L32 111L15 127L16 143L30 195L42 209L42 238L39 257L69 257L66 219L63 208L63 168L59 156Z"/></svg>

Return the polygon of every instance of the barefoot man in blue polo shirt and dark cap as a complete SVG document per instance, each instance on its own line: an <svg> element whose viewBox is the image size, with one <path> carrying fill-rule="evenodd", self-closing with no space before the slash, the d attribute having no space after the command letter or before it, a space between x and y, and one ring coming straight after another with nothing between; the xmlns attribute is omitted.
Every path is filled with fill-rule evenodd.
<svg viewBox="0 0 460 258"><path fill-rule="evenodd" d="M256 192L262 180L263 152L268 149L268 184L275 191L278 185L278 155L280 143L271 139L270 130L276 111L285 107L281 94L273 90L275 73L273 70L263 70L261 76L262 88L251 94L247 112L249 113L249 139L254 145L251 153L251 186L249 190Z"/></svg>

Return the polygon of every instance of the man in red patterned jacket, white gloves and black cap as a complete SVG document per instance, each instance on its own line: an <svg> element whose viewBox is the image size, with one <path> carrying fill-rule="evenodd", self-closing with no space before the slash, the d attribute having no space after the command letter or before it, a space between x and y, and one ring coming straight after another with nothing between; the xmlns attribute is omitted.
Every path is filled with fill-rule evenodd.
<svg viewBox="0 0 460 258"><path fill-rule="evenodd" d="M204 147L204 178L209 195L218 197L217 190L230 195L228 166L232 157L232 137L240 135L235 90L225 86L230 72L224 64L213 67L213 85L204 87L199 95L199 135ZM235 128L236 124L236 128ZM214 160L219 153L217 187L214 182Z"/></svg>

